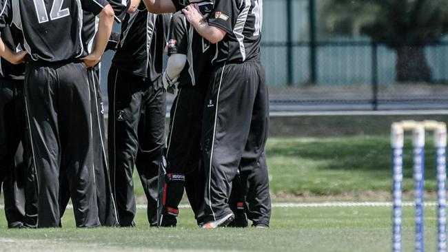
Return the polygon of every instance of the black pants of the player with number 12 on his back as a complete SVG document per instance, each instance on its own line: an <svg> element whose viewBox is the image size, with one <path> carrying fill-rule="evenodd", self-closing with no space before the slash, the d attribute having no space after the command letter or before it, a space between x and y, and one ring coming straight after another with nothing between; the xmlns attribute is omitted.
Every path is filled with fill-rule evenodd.
<svg viewBox="0 0 448 252"><path fill-rule="evenodd" d="M39 61L26 67L26 107L39 194L38 227L60 227L59 175L68 180L77 227L100 224L87 76L81 61Z"/></svg>

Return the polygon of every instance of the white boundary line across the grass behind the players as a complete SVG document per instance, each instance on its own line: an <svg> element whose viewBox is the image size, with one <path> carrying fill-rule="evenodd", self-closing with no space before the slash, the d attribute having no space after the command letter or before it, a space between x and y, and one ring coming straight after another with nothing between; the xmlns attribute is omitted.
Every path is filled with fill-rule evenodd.
<svg viewBox="0 0 448 252"><path fill-rule="evenodd" d="M392 207L392 202L319 202L319 203L273 203L275 208L312 208L312 207ZM414 202L403 202L403 207L414 207ZM425 207L436 207L437 202L425 202ZM146 209L146 204L138 204L137 209ZM5 205L0 204L0 209ZM181 204L179 208L190 208L189 204ZM67 209L73 209L72 204L68 204Z"/></svg>

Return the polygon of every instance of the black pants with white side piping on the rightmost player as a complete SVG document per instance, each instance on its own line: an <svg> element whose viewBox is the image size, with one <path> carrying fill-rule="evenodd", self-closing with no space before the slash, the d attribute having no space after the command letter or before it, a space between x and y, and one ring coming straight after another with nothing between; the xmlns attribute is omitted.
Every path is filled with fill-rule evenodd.
<svg viewBox="0 0 448 252"><path fill-rule="evenodd" d="M269 98L261 64L216 67L203 114L206 221L232 213L228 200L238 169L256 172L258 164L265 165L268 125ZM260 180L265 191L257 193L265 197L261 201L270 215L267 172L259 176L265 176Z"/></svg>

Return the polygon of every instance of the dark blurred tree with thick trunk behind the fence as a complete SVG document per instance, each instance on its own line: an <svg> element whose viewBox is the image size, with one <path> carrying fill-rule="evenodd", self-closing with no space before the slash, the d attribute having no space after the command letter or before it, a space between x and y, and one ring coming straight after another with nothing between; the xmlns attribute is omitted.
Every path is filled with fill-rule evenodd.
<svg viewBox="0 0 448 252"><path fill-rule="evenodd" d="M447 0L320 0L320 34L366 35L396 50L399 82L431 82L423 48L448 34Z"/></svg>

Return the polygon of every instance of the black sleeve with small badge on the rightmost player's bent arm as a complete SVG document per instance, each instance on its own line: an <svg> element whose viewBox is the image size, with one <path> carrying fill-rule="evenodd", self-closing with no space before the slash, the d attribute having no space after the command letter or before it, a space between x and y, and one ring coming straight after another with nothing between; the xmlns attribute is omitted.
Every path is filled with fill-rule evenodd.
<svg viewBox="0 0 448 252"><path fill-rule="evenodd" d="M232 33L237 18L236 0L216 0L215 8L208 18L208 24Z"/></svg>

